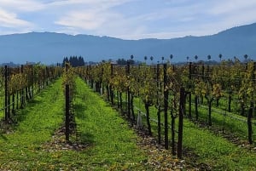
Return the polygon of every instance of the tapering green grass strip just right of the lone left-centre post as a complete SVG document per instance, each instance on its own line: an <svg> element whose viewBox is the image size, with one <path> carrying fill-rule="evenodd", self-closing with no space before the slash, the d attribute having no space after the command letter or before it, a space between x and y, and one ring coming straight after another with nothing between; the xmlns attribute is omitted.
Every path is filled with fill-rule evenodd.
<svg viewBox="0 0 256 171"><path fill-rule="evenodd" d="M81 80L77 80L74 111L80 139L89 145L84 152L88 170L147 170L146 155L137 146L135 134L97 94Z"/></svg>

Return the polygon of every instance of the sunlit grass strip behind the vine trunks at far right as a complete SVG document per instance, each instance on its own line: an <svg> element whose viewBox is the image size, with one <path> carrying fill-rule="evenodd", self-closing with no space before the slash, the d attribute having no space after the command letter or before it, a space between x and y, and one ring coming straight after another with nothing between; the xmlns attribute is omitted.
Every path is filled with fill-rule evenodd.
<svg viewBox="0 0 256 171"><path fill-rule="evenodd" d="M236 94L234 95L236 96ZM247 141L247 117L241 116L235 108L240 105L236 100L231 101L231 111L228 112L228 102L226 99L219 100L219 106L216 106L216 101L212 102L212 128L223 129L228 134L233 134L239 137L240 141ZM192 95L192 117L195 118L195 104L194 96ZM186 105L187 114L189 113L189 100ZM208 106L207 100L204 99L203 105L198 105L199 121L207 124L208 120ZM245 113L247 115L247 111ZM253 114L254 115L254 114ZM256 120L253 121L253 130L256 130ZM253 134L253 142L256 142L256 134Z"/></svg>

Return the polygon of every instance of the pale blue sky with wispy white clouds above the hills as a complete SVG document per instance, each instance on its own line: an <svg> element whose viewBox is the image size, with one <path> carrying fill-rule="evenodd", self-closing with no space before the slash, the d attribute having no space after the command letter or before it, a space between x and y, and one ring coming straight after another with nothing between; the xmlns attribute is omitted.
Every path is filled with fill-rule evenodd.
<svg viewBox="0 0 256 171"><path fill-rule="evenodd" d="M255 9L256 0L0 0L0 35L205 36L256 22Z"/></svg>

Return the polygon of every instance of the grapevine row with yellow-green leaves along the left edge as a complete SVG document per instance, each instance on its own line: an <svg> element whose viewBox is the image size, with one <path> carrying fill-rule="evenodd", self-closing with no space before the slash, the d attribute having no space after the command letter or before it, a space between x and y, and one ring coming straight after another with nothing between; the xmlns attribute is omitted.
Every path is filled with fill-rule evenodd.
<svg viewBox="0 0 256 171"><path fill-rule="evenodd" d="M47 87L62 73L61 67L25 65L11 68L4 66L0 78L1 96L4 100L4 121L12 122L15 111L24 108L26 101L31 100L34 94Z"/></svg>

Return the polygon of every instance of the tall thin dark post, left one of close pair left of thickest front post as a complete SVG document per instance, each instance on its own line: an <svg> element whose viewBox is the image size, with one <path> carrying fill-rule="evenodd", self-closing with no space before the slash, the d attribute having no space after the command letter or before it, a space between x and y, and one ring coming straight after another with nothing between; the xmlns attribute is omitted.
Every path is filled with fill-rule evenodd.
<svg viewBox="0 0 256 171"><path fill-rule="evenodd" d="M158 127L158 143L161 144L161 117L160 117L160 100L159 100L159 64L156 66L156 85L157 85L157 127Z"/></svg>

